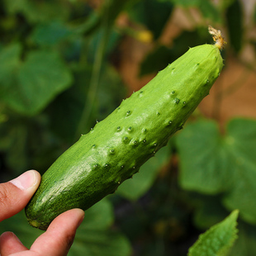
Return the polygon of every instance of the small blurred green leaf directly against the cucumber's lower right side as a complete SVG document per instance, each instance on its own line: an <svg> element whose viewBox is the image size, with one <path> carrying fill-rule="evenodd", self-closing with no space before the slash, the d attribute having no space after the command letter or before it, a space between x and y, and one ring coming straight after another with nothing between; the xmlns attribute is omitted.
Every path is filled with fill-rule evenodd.
<svg viewBox="0 0 256 256"><path fill-rule="evenodd" d="M140 168L133 178L126 180L118 187L116 194L126 197L130 201L138 200L153 185L159 169L167 164L170 159L169 147L160 149L154 158L149 159Z"/></svg>

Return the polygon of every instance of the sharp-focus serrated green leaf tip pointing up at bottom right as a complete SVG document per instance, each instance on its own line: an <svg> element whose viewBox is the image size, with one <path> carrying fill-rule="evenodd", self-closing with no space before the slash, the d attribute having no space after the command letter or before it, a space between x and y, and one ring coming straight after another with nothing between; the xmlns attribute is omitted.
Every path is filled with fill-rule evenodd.
<svg viewBox="0 0 256 256"><path fill-rule="evenodd" d="M210 230L199 236L199 239L188 251L188 256L225 256L237 239L236 229L239 211L231 212L230 216L213 225Z"/></svg>

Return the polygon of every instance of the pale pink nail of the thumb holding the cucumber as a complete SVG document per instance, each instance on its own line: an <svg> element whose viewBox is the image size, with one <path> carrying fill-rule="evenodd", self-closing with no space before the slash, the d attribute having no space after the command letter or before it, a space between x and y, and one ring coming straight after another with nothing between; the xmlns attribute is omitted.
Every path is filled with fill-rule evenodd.
<svg viewBox="0 0 256 256"><path fill-rule="evenodd" d="M21 190L34 187L36 184L36 171L26 171L26 173L22 173L19 177L12 179L10 183L19 187Z"/></svg>

